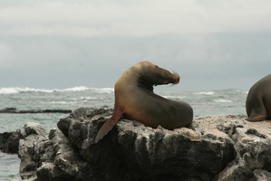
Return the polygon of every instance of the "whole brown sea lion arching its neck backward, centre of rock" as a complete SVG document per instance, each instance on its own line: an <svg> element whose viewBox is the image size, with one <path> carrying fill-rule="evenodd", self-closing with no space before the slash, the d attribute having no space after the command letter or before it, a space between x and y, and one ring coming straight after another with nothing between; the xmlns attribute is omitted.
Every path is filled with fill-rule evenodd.
<svg viewBox="0 0 271 181"><path fill-rule="evenodd" d="M124 71L114 86L113 115L102 125L95 143L112 129L121 115L151 128L188 126L193 119L193 110L188 103L167 100L153 92L153 86L169 83L179 83L179 75L152 62L138 62Z"/></svg>

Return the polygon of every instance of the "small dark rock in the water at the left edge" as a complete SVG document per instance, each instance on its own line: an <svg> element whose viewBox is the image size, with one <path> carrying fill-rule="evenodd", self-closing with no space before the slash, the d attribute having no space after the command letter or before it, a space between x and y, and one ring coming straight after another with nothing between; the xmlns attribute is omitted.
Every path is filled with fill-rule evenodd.
<svg viewBox="0 0 271 181"><path fill-rule="evenodd" d="M4 153L18 153L19 139L15 131L0 133L0 150Z"/></svg>

